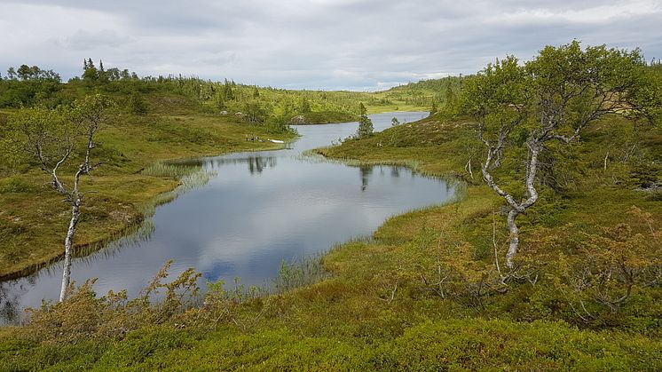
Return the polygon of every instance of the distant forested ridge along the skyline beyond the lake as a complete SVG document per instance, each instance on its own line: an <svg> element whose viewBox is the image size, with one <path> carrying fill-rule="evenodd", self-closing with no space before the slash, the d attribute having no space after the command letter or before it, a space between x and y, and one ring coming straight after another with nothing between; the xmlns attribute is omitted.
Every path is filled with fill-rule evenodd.
<svg viewBox="0 0 662 372"><path fill-rule="evenodd" d="M436 111L457 96L462 76L407 83L389 91L292 91L235 83L213 82L197 76L138 76L118 67L104 67L92 59L83 61L80 76L63 83L53 70L38 66L10 67L0 75L0 108L57 107L69 105L91 92L111 96L128 113L146 115L152 109L149 96L183 96L197 109L209 114L238 115L248 123L286 125L297 115L310 115L317 121L355 118L358 102L367 107L398 111ZM162 107L165 108L165 107ZM323 115L311 115L322 113ZM349 115L349 116L348 116Z"/></svg>

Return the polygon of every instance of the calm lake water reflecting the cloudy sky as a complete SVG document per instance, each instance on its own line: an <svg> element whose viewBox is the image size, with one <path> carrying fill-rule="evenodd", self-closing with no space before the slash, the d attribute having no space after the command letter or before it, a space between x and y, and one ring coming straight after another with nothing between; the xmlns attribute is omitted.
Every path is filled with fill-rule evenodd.
<svg viewBox="0 0 662 372"><path fill-rule="evenodd" d="M371 115L375 131L422 119L427 113ZM453 186L402 167L350 167L302 156L356 132L358 123L296 126L302 136L287 149L202 158L216 174L204 186L157 208L146 241L101 249L76 258L73 279L99 278L95 289L145 287L169 259L170 275L188 267L203 281L235 277L246 285L268 284L283 260L325 251L336 242L369 235L386 218L445 202ZM83 214L84 214L83 210ZM65 221L63 221L65 223ZM112 245L112 244L111 244ZM61 264L0 283L0 323L42 299L57 299Z"/></svg>

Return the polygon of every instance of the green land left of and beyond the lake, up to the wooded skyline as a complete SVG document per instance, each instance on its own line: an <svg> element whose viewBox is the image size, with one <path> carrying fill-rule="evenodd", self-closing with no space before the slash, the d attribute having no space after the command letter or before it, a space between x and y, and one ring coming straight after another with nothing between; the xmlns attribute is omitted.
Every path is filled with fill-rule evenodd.
<svg viewBox="0 0 662 372"><path fill-rule="evenodd" d="M18 71L18 72L16 72ZM412 86L415 86L412 84ZM97 134L94 153L106 162L95 178L82 181L94 190L87 200L77 233L80 254L141 223L145 211L161 200L158 194L177 186L177 177L141 173L154 162L231 151L277 148L247 141L256 136L293 138L288 123L355 121L357 102L380 111L395 103L403 107L429 102L418 89L395 89L392 100L375 99L385 92L286 91L195 77L138 77L116 67L96 67L86 59L82 77L60 83L59 75L40 67L10 68L0 79L0 278L34 271L62 256L60 249L67 206L46 192L48 178L38 170L22 134L10 131L10 117L20 107L69 107L76 99L102 94L117 103L113 123ZM413 99L412 97L417 97ZM421 109L422 107L415 107ZM12 119L13 120L13 119ZM81 159L73 154L70 162ZM74 173L74 166L65 168ZM38 195L38 197L37 197ZM35 203L34 200L39 202ZM149 202L153 201L153 202ZM29 251L25 247L34 247Z"/></svg>

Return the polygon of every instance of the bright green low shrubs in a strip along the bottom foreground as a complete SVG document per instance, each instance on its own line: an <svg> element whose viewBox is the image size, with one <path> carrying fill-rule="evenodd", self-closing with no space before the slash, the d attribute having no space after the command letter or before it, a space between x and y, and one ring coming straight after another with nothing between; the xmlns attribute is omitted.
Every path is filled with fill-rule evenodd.
<svg viewBox="0 0 662 372"><path fill-rule="evenodd" d="M604 344L605 338L614 339ZM24 359L23 352L34 352ZM119 343L51 345L4 342L10 369L95 370L656 370L659 344L645 337L587 332L563 323L514 325L498 320L425 321L375 344L303 336L286 328L201 333L145 328ZM12 352L16 352L12 355Z"/></svg>

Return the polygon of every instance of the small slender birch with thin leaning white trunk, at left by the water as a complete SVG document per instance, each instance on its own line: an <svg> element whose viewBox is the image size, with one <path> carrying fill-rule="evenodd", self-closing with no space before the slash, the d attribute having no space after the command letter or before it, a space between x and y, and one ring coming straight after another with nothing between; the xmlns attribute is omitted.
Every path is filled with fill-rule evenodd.
<svg viewBox="0 0 662 372"><path fill-rule="evenodd" d="M62 273L62 286L59 301L67 297L71 281L71 259L74 251L76 227L81 216L85 193L80 181L103 162L92 161L92 150L96 146L95 135L102 125L108 122L109 109L114 104L106 97L97 94L76 101L73 107L21 108L12 116L14 128L22 132L29 150L34 154L41 170L51 178L51 187L64 196L71 207L71 217L64 241L65 257ZM79 159L73 170L70 183L65 182L69 162Z"/></svg>

